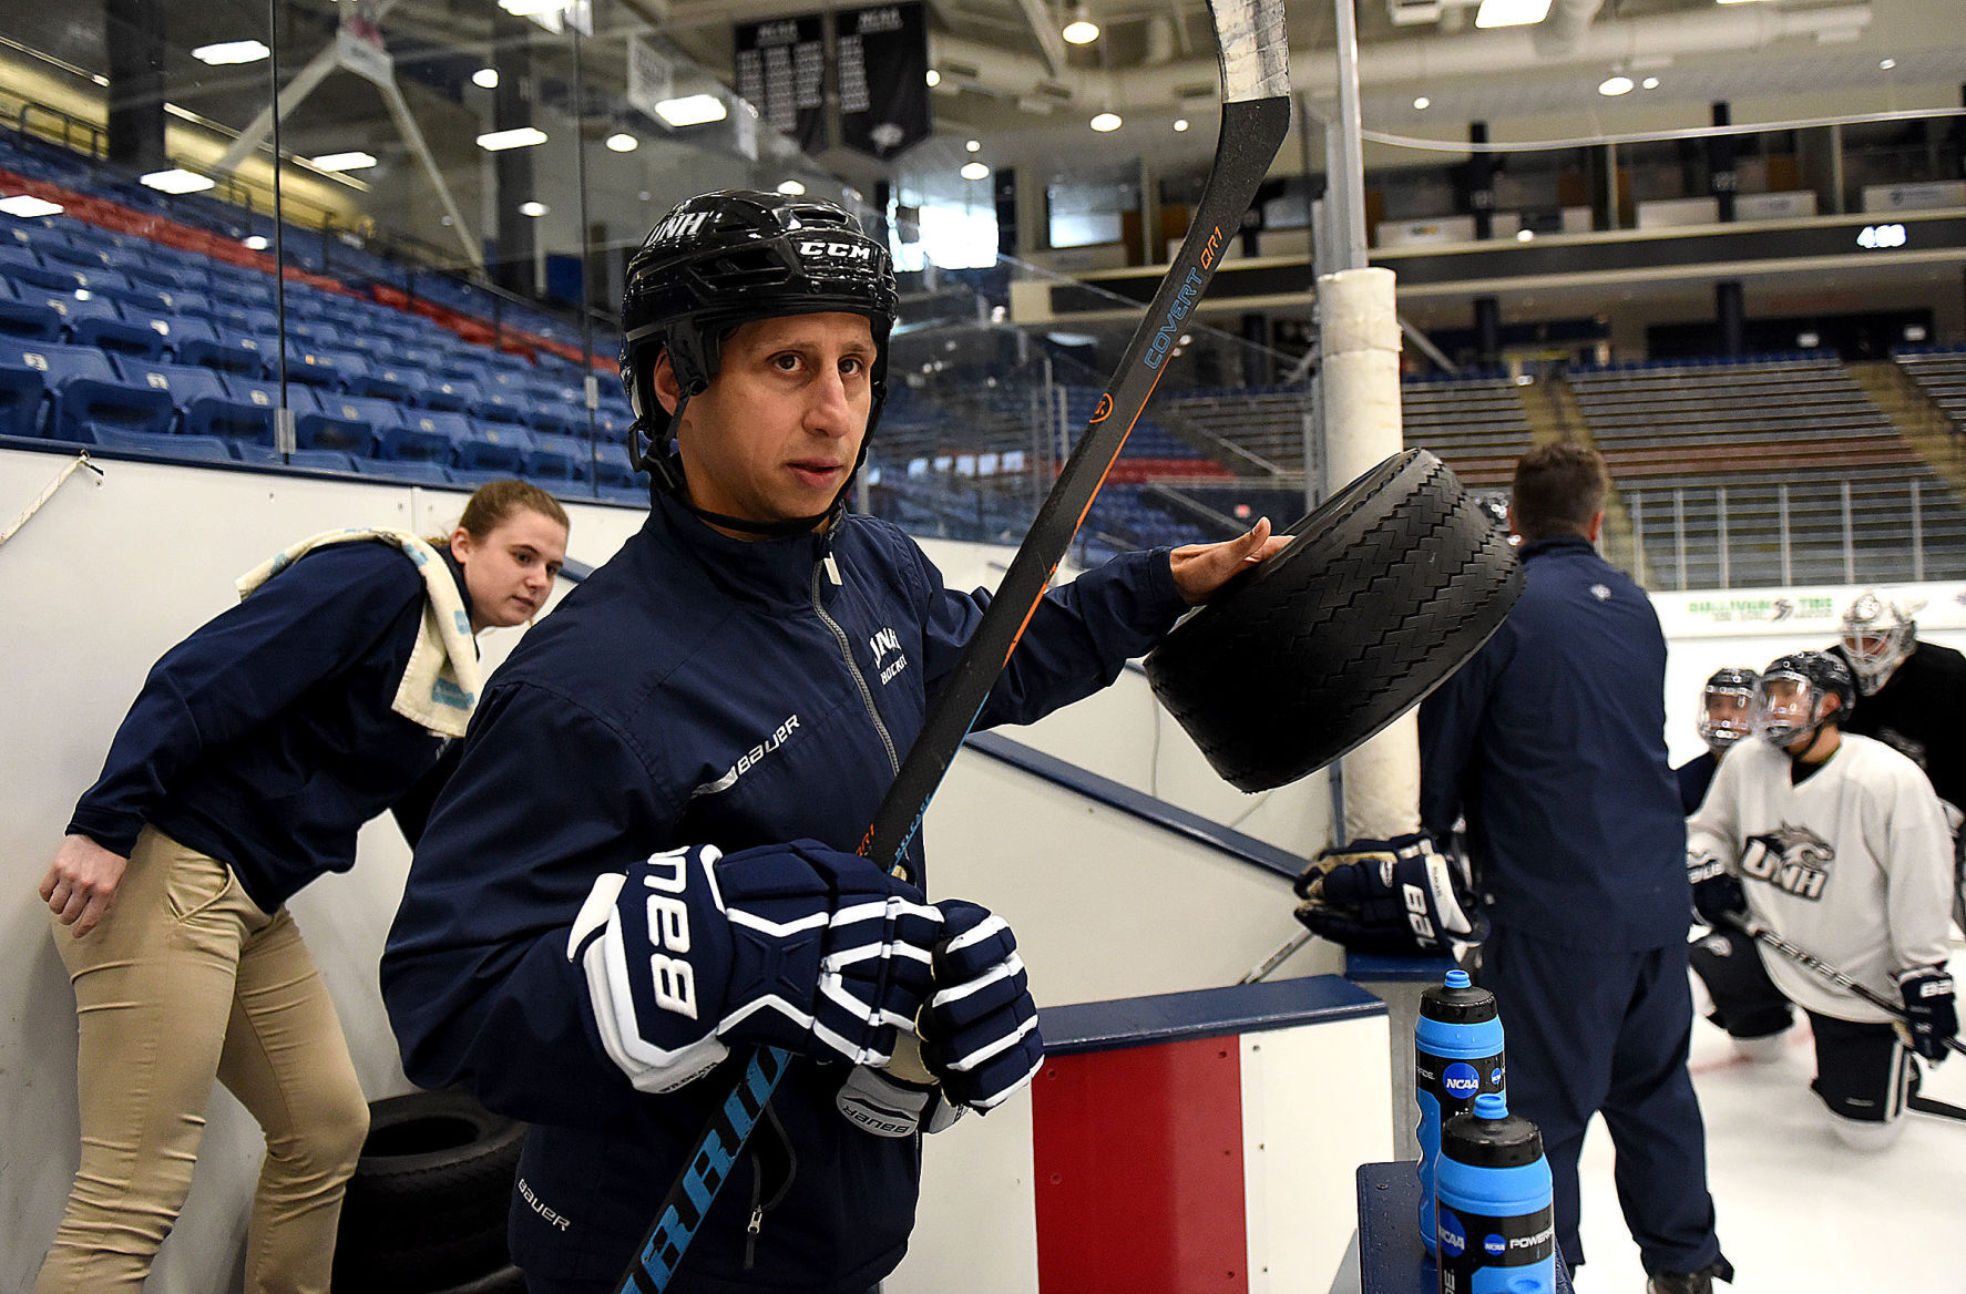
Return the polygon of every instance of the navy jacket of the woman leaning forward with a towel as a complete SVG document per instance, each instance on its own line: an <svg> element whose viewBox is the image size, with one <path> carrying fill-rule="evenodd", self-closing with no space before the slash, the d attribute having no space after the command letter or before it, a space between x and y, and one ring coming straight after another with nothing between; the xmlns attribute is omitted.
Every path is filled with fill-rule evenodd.
<svg viewBox="0 0 1966 1294"><path fill-rule="evenodd" d="M151 667L69 834L128 857L147 822L226 863L265 912L348 871L385 808L405 806L415 842L444 739L389 706L427 598L387 543L307 553Z"/></svg>

